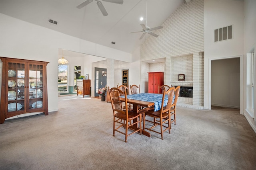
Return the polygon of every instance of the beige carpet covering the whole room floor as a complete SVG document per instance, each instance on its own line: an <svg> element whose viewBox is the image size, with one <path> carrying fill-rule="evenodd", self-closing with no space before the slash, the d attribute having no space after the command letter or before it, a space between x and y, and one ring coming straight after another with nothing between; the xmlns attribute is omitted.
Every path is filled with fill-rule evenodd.
<svg viewBox="0 0 256 170"><path fill-rule="evenodd" d="M19 117L21 117L20 115ZM0 125L1 170L253 170L256 134L238 109L177 109L171 134L113 137L110 103L59 97L59 111Z"/></svg>

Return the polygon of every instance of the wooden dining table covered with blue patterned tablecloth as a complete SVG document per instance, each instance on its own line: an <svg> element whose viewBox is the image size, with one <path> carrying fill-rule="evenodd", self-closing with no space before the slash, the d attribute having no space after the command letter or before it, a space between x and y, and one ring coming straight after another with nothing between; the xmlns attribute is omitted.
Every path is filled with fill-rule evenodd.
<svg viewBox="0 0 256 170"><path fill-rule="evenodd" d="M125 102L124 96L121 96L120 101ZM162 94L141 93L127 95L127 103L132 104L133 111L136 111L137 113L142 114L151 109L155 109L156 111L159 109L159 105L162 104ZM138 126L134 125L132 129L138 129ZM143 129L142 134L151 137L151 134Z"/></svg>

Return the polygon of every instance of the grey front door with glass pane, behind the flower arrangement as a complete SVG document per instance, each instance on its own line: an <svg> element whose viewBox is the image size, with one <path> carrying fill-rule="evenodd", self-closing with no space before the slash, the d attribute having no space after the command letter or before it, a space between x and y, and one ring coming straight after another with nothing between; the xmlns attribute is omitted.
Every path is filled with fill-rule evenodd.
<svg viewBox="0 0 256 170"><path fill-rule="evenodd" d="M104 88L107 84L107 69L106 68L95 68L95 92L94 96L99 96L98 90Z"/></svg>

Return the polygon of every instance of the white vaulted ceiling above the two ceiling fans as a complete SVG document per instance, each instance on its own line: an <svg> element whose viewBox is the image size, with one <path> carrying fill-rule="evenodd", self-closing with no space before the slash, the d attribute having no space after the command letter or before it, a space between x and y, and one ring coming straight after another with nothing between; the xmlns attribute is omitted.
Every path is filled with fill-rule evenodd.
<svg viewBox="0 0 256 170"><path fill-rule="evenodd" d="M189 0L124 0L123 4L100 0L108 16L103 16L94 0L81 9L86 0L1 0L0 12L48 29L78 37L113 49L132 53L140 40L140 23L161 25L178 7ZM147 8L146 8L147 4ZM147 13L147 16L146 16ZM143 17L144 20L140 21ZM57 21L57 25L49 20ZM152 31L157 33L157 30ZM112 42L115 42L113 44Z"/></svg>

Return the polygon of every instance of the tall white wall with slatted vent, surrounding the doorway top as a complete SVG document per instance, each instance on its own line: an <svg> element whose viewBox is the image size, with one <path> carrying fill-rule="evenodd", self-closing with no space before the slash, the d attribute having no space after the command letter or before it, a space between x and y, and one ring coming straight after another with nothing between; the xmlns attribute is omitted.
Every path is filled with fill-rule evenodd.
<svg viewBox="0 0 256 170"><path fill-rule="evenodd" d="M233 39L214 43L214 29L229 25ZM243 54L244 2L204 1L204 108L211 108L211 60Z"/></svg>

